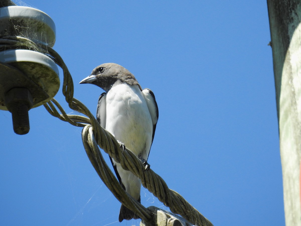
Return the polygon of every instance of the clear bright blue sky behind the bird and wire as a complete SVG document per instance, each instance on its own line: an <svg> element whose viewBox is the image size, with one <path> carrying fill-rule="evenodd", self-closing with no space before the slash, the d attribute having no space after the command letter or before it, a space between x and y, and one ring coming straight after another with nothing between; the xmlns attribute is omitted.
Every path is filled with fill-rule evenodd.
<svg viewBox="0 0 301 226"><path fill-rule="evenodd" d="M17 2L47 13L74 97L96 112L103 92L79 85L114 62L154 92L159 121L148 162L215 226L284 225L272 49L265 1ZM62 83L62 71L60 70ZM67 113L61 89L55 96ZM81 128L43 106L16 135L0 111L1 225L139 225L89 162ZM107 155L107 162L110 161ZM142 188L144 206L168 210Z"/></svg>

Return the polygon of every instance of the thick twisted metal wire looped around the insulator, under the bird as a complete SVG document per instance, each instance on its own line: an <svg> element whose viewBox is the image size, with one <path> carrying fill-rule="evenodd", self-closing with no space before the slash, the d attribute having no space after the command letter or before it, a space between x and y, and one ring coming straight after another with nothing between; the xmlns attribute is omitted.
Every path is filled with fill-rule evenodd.
<svg viewBox="0 0 301 226"><path fill-rule="evenodd" d="M62 91L65 96L65 100L68 103L69 108L74 111L78 111L87 117L81 115L67 115L55 99L44 104L44 107L54 117L57 117L62 121L66 121L74 126L83 127L82 141L90 162L101 180L103 180L116 199L118 199L123 205L140 216L144 222L147 222L150 225L154 224L154 217L151 211L146 209L132 198L132 196L129 196L125 190L123 190L116 177L104 161L98 146L103 149L104 152L109 154L116 162L119 162L123 169L129 170L139 177L143 187L153 193L154 196L163 202L165 206L168 206L173 213L181 215L187 221L195 225L213 225L180 194L170 190L165 181L158 174L151 169L144 171L144 166L141 160L138 159L130 150L121 149L113 135L100 126L88 108L86 108L86 106L79 100L73 98L74 87L71 74L63 59L57 54L57 52L45 45L38 45L29 39L16 36L7 36L0 39L0 51L7 49L30 49L41 52L50 57L63 69L64 80Z"/></svg>

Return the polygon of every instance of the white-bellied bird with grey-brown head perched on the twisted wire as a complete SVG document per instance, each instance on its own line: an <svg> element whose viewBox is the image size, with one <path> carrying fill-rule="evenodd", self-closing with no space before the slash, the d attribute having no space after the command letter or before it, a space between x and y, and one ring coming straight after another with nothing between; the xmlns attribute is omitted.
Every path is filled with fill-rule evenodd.
<svg viewBox="0 0 301 226"><path fill-rule="evenodd" d="M135 76L115 63L95 67L79 84L94 84L105 92L99 96L96 118L101 127L141 159L144 170L154 140L159 117L158 105L151 89L141 89ZM132 172L124 170L110 157L116 177L123 189L140 202L141 181ZM140 218L121 205L119 222Z"/></svg>

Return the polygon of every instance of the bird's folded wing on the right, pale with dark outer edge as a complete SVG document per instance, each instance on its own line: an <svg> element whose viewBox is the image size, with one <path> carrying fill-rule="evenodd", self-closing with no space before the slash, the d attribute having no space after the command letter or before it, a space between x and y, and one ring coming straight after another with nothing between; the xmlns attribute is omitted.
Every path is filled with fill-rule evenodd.
<svg viewBox="0 0 301 226"><path fill-rule="evenodd" d="M153 137L151 140L151 142L153 143L156 125L157 125L157 121L159 118L158 105L157 105L157 102L155 99L155 95L150 89L143 89L142 93L144 95L144 99L146 101L148 110L150 111L150 114L151 114L151 121L153 122Z"/></svg>

